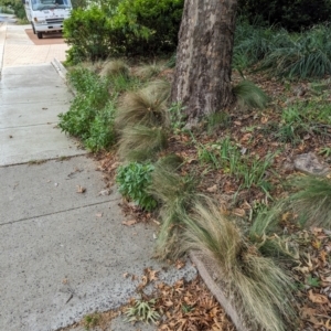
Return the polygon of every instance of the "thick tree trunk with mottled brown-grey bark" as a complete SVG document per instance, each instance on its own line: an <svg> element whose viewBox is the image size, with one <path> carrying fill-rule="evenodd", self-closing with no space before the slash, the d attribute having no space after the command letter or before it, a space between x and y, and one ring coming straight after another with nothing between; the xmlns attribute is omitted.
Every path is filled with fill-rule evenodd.
<svg viewBox="0 0 331 331"><path fill-rule="evenodd" d="M189 124L229 106L237 0L185 0L171 98Z"/></svg>

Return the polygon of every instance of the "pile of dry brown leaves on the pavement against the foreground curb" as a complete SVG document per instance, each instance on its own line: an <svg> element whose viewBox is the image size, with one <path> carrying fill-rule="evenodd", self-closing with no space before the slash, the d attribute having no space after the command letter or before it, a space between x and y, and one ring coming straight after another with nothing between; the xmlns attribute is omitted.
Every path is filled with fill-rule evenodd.
<svg viewBox="0 0 331 331"><path fill-rule="evenodd" d="M175 265L182 264L180 260ZM158 331L235 331L226 312L200 276L191 281L180 279L170 286L159 281L158 274L158 270L146 268L137 287L141 299L146 302L154 300L153 309L160 316L156 322ZM150 286L153 290L146 295L145 289ZM136 302L131 299L129 306Z"/></svg>

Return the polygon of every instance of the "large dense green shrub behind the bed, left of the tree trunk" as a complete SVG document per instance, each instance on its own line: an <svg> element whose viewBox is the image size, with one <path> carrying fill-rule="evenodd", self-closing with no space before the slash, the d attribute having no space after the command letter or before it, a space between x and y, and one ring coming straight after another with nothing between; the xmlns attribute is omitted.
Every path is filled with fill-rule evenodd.
<svg viewBox="0 0 331 331"><path fill-rule="evenodd" d="M64 22L70 63L173 52L183 0L122 0L77 8Z"/></svg>

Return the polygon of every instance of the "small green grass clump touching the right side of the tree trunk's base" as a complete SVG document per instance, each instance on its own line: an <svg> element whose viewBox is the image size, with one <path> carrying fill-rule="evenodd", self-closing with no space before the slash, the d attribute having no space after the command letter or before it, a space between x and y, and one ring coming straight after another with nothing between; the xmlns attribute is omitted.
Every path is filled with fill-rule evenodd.
<svg viewBox="0 0 331 331"><path fill-rule="evenodd" d="M263 109L269 102L269 97L249 81L242 81L234 86L233 93L236 96L238 104L248 108Z"/></svg>

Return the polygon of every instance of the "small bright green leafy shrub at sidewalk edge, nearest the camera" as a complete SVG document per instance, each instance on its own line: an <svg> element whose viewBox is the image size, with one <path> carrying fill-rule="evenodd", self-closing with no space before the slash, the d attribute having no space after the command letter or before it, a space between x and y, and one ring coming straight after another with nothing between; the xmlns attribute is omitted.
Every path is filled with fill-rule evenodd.
<svg viewBox="0 0 331 331"><path fill-rule="evenodd" d="M120 166L117 170L116 182L119 184L119 192L147 211L157 206L157 201L147 193L151 183L151 173L154 167L150 163L141 164L131 162Z"/></svg>

